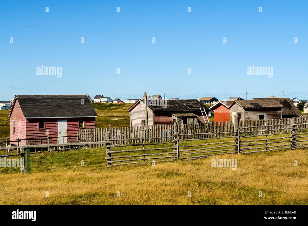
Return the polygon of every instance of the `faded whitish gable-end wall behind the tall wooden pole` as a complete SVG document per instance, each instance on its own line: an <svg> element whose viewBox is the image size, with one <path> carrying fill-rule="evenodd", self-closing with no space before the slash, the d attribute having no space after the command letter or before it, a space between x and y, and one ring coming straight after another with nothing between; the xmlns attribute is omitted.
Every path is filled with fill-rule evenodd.
<svg viewBox="0 0 308 226"><path fill-rule="evenodd" d="M129 112L129 120L132 121L132 126L141 126L141 119L145 119L144 103L139 103ZM153 125L153 112L148 108L148 125Z"/></svg>

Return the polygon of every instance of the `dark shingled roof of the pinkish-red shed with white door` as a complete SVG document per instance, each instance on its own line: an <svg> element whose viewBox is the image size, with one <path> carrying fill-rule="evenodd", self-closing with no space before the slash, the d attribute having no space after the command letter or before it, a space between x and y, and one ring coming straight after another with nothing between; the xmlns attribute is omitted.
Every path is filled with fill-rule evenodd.
<svg viewBox="0 0 308 226"><path fill-rule="evenodd" d="M16 95L15 98L25 118L97 116L86 95Z"/></svg>

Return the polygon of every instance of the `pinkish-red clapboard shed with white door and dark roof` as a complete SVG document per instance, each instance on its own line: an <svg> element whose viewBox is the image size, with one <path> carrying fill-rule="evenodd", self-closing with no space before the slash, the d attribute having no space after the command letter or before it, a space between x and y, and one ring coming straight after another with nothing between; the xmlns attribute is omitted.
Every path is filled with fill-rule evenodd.
<svg viewBox="0 0 308 226"><path fill-rule="evenodd" d="M15 95L9 117L12 141L49 136L50 144L65 144L77 140L80 128L95 128L97 114L86 95Z"/></svg>

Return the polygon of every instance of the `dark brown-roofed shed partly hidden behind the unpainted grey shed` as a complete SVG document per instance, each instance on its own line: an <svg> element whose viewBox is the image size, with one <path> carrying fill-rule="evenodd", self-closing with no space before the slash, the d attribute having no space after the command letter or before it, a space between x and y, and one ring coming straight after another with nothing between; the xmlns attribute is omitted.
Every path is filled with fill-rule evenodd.
<svg viewBox="0 0 308 226"><path fill-rule="evenodd" d="M301 115L297 107L294 106L289 97L274 97L273 98L253 98L253 100L269 100L269 101L277 101L280 103L282 107L281 117L282 118L292 118L298 117Z"/></svg>

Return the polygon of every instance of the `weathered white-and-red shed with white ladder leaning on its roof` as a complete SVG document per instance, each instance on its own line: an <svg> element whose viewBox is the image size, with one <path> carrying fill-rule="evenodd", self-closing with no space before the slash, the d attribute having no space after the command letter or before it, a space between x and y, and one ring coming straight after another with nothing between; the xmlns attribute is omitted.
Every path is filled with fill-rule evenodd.
<svg viewBox="0 0 308 226"><path fill-rule="evenodd" d="M164 101L164 100L162 100ZM172 125L177 121L180 125L205 123L201 109L205 108L206 113L210 111L197 100L165 100L165 105L148 105L148 125ZM128 109L130 126L145 125L145 105L138 100Z"/></svg>

